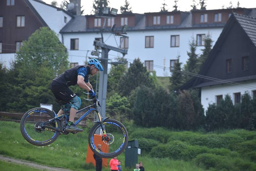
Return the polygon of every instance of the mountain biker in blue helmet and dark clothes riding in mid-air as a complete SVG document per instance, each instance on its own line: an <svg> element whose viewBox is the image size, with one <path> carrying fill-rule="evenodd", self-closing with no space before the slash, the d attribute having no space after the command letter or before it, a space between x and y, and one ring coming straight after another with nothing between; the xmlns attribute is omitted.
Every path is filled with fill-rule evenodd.
<svg viewBox="0 0 256 171"><path fill-rule="evenodd" d="M58 75L54 78L50 84L53 95L57 100L64 101L65 107L64 111L69 112L69 121L66 126L67 132L83 132L83 129L77 128L74 125L74 118L76 111L81 105L81 99L76 96L68 87L75 86L78 84L84 90L89 91L91 97L96 97L95 92L93 91L92 85L89 82L89 76L97 74L98 71L103 71L103 67L100 64L100 61L92 58L88 61L88 65L78 65L73 68L66 70L64 73ZM63 111L60 109L58 116L63 114Z"/></svg>

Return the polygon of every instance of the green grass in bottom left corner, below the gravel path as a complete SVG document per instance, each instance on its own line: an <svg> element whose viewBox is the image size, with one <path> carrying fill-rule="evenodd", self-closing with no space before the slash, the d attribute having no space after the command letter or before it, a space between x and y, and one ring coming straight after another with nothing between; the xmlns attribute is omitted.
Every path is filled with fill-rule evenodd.
<svg viewBox="0 0 256 171"><path fill-rule="evenodd" d="M42 171L39 169L34 169L32 167L27 167L24 165L18 165L13 163L8 163L6 161L0 160L0 168L2 171Z"/></svg>

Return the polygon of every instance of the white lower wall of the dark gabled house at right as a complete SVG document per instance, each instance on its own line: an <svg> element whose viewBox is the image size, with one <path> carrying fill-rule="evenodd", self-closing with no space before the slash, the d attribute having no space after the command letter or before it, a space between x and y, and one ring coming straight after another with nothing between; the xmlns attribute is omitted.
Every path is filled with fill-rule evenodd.
<svg viewBox="0 0 256 171"><path fill-rule="evenodd" d="M243 84L244 86L252 86L256 87L256 80L254 81L246 81L246 82L238 82L240 84ZM207 86L202 87L201 89L201 104L204 107L204 112L207 110L209 104L217 103L216 102L216 96L223 95L223 99L225 98L225 95L228 94L232 98L233 104L234 104L234 93L241 93L241 96L248 91L248 93L252 97L252 91L255 89L249 89L245 87L241 87L239 85L215 85L215 86Z"/></svg>

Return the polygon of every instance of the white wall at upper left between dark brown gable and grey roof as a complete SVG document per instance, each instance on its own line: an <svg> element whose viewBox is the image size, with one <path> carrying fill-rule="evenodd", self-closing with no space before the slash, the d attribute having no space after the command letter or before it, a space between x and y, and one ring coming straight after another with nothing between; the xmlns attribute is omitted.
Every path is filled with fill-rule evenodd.
<svg viewBox="0 0 256 171"><path fill-rule="evenodd" d="M66 23L64 22L64 17L67 17L67 23L71 19L71 17L63 11L57 11L56 8L51 6L29 0L29 2L33 5L39 15L44 19L46 24L58 34L58 37L61 42L61 35L59 34L61 28L63 28Z"/></svg>

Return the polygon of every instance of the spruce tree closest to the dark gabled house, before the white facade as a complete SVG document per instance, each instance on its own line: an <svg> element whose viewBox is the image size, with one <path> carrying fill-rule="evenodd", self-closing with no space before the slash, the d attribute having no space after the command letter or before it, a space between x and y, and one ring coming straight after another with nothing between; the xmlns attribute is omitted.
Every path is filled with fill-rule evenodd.
<svg viewBox="0 0 256 171"><path fill-rule="evenodd" d="M208 58L211 50L212 50L212 37L210 35L210 33L208 33L206 35L206 37L204 38L204 49L202 49L202 54L200 55L200 57L198 58L198 71L202 68L205 60Z"/></svg>

